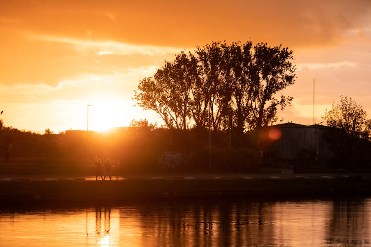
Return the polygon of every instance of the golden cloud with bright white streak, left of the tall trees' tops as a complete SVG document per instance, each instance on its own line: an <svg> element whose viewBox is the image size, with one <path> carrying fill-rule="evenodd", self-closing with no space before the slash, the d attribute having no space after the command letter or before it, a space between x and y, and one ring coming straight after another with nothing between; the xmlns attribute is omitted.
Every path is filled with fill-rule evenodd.
<svg viewBox="0 0 371 247"><path fill-rule="evenodd" d="M160 67L178 49L26 35L5 31L0 40L0 84L47 84L84 74L122 74L143 67ZM145 72L145 71L144 71ZM142 75L147 76L147 74Z"/></svg>

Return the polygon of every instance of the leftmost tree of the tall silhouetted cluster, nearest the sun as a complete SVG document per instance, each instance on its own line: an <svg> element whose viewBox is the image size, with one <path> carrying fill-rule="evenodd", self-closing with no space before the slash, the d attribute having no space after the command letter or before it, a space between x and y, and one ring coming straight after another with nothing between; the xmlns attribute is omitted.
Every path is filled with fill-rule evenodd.
<svg viewBox="0 0 371 247"><path fill-rule="evenodd" d="M194 56L185 52L177 55L174 62L165 61L153 78L139 82L139 90L134 95L137 104L155 111L169 128L186 129L194 105L191 100L196 66Z"/></svg>

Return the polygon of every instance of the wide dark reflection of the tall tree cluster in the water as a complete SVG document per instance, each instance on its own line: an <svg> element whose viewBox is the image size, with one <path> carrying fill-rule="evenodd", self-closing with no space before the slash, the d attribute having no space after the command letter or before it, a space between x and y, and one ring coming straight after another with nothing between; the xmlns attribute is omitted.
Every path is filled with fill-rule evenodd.
<svg viewBox="0 0 371 247"><path fill-rule="evenodd" d="M245 246L275 243L272 207L266 203L174 202L136 207L134 220L120 212L120 231L133 231L142 246ZM130 222L132 221L132 222ZM140 232L138 232L140 231ZM125 241L120 239L120 243Z"/></svg>

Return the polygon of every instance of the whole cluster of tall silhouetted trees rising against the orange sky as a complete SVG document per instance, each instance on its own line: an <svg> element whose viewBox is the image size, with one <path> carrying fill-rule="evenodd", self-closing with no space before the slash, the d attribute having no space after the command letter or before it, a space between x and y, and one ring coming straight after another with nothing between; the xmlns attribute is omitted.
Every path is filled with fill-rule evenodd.
<svg viewBox="0 0 371 247"><path fill-rule="evenodd" d="M292 51L251 41L212 42L165 61L135 90L137 105L155 111L167 127L256 130L277 121L292 97L279 95L295 81Z"/></svg>

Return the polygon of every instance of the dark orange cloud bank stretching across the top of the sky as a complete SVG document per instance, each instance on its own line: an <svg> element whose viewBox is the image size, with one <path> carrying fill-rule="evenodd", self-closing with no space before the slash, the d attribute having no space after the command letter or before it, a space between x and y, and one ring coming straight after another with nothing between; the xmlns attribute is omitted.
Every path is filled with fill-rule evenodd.
<svg viewBox="0 0 371 247"><path fill-rule="evenodd" d="M1 1L16 29L75 39L194 47L253 39L290 46L332 44L369 27L369 0ZM10 25L10 24L9 24Z"/></svg>

